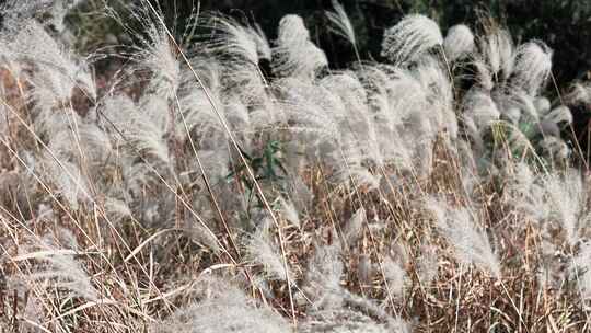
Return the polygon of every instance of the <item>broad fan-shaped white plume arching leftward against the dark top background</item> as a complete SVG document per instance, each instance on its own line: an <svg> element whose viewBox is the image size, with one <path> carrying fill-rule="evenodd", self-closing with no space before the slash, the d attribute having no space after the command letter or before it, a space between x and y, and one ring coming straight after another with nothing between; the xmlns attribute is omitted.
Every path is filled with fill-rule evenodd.
<svg viewBox="0 0 591 333"><path fill-rule="evenodd" d="M384 32L381 55L401 66L417 60L429 49L442 44L443 36L433 20L412 14Z"/></svg>

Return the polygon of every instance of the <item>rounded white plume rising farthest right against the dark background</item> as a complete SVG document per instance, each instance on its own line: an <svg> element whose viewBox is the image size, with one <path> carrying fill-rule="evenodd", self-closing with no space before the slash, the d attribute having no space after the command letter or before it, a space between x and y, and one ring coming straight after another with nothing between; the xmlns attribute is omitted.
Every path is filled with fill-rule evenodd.
<svg viewBox="0 0 591 333"><path fill-rule="evenodd" d="M511 83L532 96L537 95L552 74L552 49L540 41L519 46Z"/></svg>

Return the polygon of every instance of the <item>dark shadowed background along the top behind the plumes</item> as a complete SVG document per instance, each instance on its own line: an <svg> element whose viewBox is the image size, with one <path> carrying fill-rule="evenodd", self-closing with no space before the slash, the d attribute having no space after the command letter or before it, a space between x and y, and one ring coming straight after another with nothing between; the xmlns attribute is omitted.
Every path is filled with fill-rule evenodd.
<svg viewBox="0 0 591 333"><path fill-rule="evenodd" d="M363 58L379 58L383 31L405 13L424 13L440 23L443 33L453 24L477 28L478 18L490 15L507 25L515 42L537 38L555 51L555 74L561 85L582 79L591 69L590 0L341 0L356 27ZM165 12L190 13L197 0L160 0ZM305 19L314 41L326 51L331 66L355 60L350 46L329 33L324 11L331 0L201 0L201 10L230 13L256 21L269 38L281 16L297 13Z"/></svg>

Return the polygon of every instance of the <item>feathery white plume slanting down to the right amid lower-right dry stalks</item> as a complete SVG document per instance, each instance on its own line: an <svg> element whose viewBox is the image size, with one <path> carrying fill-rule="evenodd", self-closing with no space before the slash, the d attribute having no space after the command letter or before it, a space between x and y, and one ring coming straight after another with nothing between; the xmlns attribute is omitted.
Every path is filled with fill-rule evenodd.
<svg viewBox="0 0 591 333"><path fill-rule="evenodd" d="M486 233L479 229L478 219L466 208L452 208L447 203L430 198L429 209L438 229L453 246L455 257L463 264L474 264L500 278L501 269Z"/></svg>

